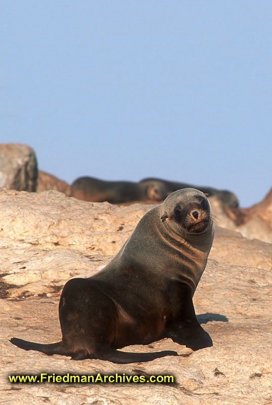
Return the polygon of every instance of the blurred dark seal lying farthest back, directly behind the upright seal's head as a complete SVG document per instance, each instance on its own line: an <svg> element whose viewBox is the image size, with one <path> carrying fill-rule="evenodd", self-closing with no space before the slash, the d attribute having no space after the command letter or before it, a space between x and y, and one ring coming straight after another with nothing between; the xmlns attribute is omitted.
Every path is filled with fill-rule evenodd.
<svg viewBox="0 0 272 405"><path fill-rule="evenodd" d="M222 201L223 204L226 204L229 207L238 207L239 206L239 200L238 200L237 196L228 190L218 190L216 188L208 187L208 186L194 186L194 185L187 184L187 183L179 183L176 181L168 181L168 180L157 179L157 178L153 178L153 177L142 179L139 183L145 183L148 181L157 181L158 185L160 184L161 188L164 187L168 194L170 194L176 190L180 190L181 188L188 188L188 187L197 188L198 190L201 190L203 193L209 194L209 196L215 195Z"/></svg>

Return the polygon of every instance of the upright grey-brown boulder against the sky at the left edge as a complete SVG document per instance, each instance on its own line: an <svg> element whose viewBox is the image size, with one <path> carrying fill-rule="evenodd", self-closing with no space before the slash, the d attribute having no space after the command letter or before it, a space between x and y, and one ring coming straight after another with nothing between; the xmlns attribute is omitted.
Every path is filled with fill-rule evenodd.
<svg viewBox="0 0 272 405"><path fill-rule="evenodd" d="M0 187L35 191L37 161L33 149L19 143L0 145Z"/></svg>

